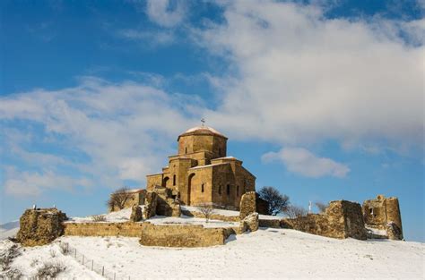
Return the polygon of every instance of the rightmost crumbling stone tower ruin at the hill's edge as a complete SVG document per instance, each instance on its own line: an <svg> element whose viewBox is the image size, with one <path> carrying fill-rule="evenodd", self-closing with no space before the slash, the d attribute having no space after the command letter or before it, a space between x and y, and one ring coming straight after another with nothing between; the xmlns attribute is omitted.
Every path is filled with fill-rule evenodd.
<svg viewBox="0 0 425 280"><path fill-rule="evenodd" d="M385 230L389 239L403 240L402 216L397 198L378 195L377 199L365 200L362 210L367 227Z"/></svg>

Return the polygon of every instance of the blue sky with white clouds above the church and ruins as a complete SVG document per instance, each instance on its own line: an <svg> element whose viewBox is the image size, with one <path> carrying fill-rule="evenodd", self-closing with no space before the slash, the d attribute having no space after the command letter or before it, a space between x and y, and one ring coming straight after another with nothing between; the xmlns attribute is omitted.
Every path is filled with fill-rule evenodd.
<svg viewBox="0 0 425 280"><path fill-rule="evenodd" d="M0 5L0 223L104 212L205 117L257 188L397 196L425 241L423 1Z"/></svg>

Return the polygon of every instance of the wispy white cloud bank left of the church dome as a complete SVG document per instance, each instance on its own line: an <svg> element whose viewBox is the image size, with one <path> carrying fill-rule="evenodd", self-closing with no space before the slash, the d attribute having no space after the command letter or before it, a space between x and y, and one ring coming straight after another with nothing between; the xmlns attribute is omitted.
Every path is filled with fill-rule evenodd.
<svg viewBox="0 0 425 280"><path fill-rule="evenodd" d="M192 107L199 106L195 102L196 98L170 95L144 84L114 84L90 77L75 88L39 89L1 98L0 120L43 127L22 131L31 137L16 135L16 130L3 132L2 157L10 153L9 157L20 158L31 168L41 168L6 173L5 191L28 190L26 194L36 195L50 188L64 189L76 183L60 175L69 168L98 186L117 187L124 180L134 180L143 187L146 174L167 164L177 135L197 123L189 115ZM13 127L13 123L5 125ZM48 139L49 147L62 151L48 154L25 149L37 146L39 139ZM66 152L71 156L66 157Z"/></svg>

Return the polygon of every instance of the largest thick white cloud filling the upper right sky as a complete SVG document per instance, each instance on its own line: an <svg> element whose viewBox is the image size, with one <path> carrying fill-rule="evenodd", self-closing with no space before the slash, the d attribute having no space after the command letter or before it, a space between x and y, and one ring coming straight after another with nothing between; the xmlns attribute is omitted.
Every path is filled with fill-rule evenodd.
<svg viewBox="0 0 425 280"><path fill-rule="evenodd" d="M422 21L331 20L274 1L230 2L224 17L195 30L238 70L216 77L221 105L204 112L222 130L282 145L422 147Z"/></svg>

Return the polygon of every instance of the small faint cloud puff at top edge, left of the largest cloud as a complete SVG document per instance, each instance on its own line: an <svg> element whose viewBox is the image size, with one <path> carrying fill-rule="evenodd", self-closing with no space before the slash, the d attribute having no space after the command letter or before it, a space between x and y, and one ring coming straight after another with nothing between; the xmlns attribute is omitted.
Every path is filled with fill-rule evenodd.
<svg viewBox="0 0 425 280"><path fill-rule="evenodd" d="M186 15L183 1L148 0L146 13L151 21L163 27L174 27L181 23Z"/></svg>

